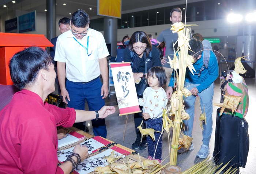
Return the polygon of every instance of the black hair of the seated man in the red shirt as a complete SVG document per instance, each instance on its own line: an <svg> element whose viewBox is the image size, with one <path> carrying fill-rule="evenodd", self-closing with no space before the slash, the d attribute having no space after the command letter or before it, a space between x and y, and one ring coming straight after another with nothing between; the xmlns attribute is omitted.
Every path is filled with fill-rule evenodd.
<svg viewBox="0 0 256 174"><path fill-rule="evenodd" d="M16 53L9 62L11 79L20 90L33 84L39 70L49 70L52 58L40 47L29 47Z"/></svg>

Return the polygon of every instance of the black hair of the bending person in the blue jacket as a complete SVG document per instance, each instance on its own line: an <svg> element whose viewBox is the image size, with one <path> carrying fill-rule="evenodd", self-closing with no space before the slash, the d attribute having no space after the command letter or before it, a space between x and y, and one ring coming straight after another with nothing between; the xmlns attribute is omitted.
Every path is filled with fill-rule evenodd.
<svg viewBox="0 0 256 174"><path fill-rule="evenodd" d="M200 40L192 38L189 40L189 45L191 47L191 50L188 50L188 55L191 55L195 59L197 59L197 57L199 57L203 53L203 43Z"/></svg>

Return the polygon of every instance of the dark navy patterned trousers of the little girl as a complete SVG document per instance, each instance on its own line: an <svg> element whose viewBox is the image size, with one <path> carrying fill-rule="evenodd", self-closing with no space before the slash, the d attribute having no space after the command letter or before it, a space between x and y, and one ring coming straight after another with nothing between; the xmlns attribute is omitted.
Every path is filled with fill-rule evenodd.
<svg viewBox="0 0 256 174"><path fill-rule="evenodd" d="M163 125L163 117L157 118L157 119L147 119L144 120L144 123L146 124L146 128L152 128L155 131L155 141L151 138L151 136L147 135L147 150L148 155L154 156L155 159L162 160L162 134L160 133L162 131L162 125ZM159 139L159 142L158 142ZM158 142L158 144L157 144ZM155 152L156 151L156 152Z"/></svg>

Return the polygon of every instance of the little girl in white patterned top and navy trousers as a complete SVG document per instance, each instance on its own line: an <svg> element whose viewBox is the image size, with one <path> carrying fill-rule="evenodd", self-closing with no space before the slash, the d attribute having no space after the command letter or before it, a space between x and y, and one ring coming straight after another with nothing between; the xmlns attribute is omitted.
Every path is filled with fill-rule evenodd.
<svg viewBox="0 0 256 174"><path fill-rule="evenodd" d="M147 80L150 87L144 90L143 98L139 98L139 105L143 106L146 128L153 128L155 131L161 132L163 109L166 108L168 102L165 90L162 88L166 84L165 70L160 66L151 67L147 73ZM162 136L159 132L155 132L155 141L147 136L147 146L148 159L157 159L161 163Z"/></svg>

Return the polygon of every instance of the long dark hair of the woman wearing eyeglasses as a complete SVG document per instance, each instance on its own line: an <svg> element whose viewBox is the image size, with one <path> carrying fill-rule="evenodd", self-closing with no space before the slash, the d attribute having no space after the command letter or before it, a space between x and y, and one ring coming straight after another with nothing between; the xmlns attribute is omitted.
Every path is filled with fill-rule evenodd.
<svg viewBox="0 0 256 174"><path fill-rule="evenodd" d="M136 43L136 42L141 42L141 43L146 43L147 44L147 48L146 48L146 53L147 53L147 57L150 53L150 51L152 51L152 45L151 45L151 42L150 42L150 39L148 37L148 35L144 32L144 31L135 31L131 38L130 38L130 41L129 41L129 44L128 44L128 49L130 51L133 51L133 48L132 48L132 44L133 43Z"/></svg>

